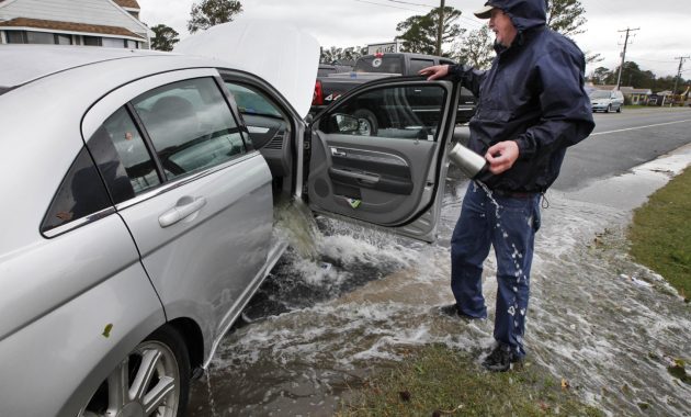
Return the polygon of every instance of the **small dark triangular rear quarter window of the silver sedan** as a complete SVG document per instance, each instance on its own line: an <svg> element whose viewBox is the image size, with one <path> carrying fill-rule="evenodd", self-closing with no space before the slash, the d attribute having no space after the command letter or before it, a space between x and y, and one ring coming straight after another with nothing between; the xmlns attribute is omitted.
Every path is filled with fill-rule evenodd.
<svg viewBox="0 0 691 417"><path fill-rule="evenodd" d="M111 206L101 177L86 148L58 188L50 207L41 225L41 232L63 226Z"/></svg>

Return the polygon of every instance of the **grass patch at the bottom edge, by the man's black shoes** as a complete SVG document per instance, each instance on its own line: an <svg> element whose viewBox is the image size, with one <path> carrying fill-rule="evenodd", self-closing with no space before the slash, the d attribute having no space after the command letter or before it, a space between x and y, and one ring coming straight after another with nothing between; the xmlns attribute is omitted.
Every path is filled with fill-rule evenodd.
<svg viewBox="0 0 691 417"><path fill-rule="evenodd" d="M476 357L441 345L420 348L344 401L339 416L601 416L566 381L525 362L485 371Z"/></svg>

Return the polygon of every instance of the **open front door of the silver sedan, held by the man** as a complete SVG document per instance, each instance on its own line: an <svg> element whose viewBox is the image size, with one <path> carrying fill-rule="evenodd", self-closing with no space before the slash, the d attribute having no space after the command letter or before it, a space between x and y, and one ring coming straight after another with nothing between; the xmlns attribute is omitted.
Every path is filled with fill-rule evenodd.
<svg viewBox="0 0 691 417"><path fill-rule="evenodd" d="M309 206L433 241L457 87L396 77L369 82L310 127Z"/></svg>

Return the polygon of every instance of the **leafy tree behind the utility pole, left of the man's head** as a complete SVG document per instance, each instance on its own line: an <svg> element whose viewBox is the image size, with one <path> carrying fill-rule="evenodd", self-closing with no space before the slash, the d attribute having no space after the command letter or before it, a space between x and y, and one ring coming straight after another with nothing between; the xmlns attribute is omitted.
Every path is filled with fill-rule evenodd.
<svg viewBox="0 0 691 417"><path fill-rule="evenodd" d="M424 15L414 15L396 25L397 32L403 32L396 36L403 41L403 50L418 54L437 53L437 29L439 24L440 8L433 9ZM444 24L442 26L442 45L455 41L465 30L461 29L456 20L461 16L461 11L452 7L443 9ZM448 56L448 54L442 54Z"/></svg>

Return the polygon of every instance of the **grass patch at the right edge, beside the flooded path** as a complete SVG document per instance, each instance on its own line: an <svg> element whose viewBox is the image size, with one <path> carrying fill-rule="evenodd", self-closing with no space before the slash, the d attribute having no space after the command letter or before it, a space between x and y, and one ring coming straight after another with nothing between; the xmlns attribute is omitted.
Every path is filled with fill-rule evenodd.
<svg viewBox="0 0 691 417"><path fill-rule="evenodd" d="M691 296L691 169L673 178L634 212L631 255L688 301Z"/></svg>

